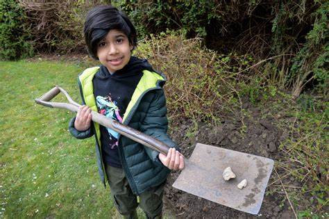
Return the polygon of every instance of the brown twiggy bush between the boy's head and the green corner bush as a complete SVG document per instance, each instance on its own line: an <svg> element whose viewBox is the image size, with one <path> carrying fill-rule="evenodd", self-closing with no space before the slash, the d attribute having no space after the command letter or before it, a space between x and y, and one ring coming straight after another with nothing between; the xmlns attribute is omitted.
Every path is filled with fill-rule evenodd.
<svg viewBox="0 0 329 219"><path fill-rule="evenodd" d="M19 4L26 10L35 51L61 54L83 51L83 22L92 3L20 0Z"/></svg>

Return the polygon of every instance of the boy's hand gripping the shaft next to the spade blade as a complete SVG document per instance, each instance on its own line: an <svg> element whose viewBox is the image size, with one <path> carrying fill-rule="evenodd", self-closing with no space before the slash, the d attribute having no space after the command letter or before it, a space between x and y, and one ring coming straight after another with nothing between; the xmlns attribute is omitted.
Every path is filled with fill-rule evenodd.
<svg viewBox="0 0 329 219"><path fill-rule="evenodd" d="M169 149L167 156L160 153L159 159L169 170L183 170L184 168L184 156L174 147Z"/></svg>

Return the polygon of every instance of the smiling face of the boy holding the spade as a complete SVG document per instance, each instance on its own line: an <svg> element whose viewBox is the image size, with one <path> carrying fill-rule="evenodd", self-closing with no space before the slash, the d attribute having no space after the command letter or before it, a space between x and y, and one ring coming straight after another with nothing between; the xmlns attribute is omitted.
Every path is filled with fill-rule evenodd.
<svg viewBox="0 0 329 219"><path fill-rule="evenodd" d="M131 50L128 37L118 30L110 30L108 35L99 42L97 56L109 72L121 70L130 60Z"/></svg>

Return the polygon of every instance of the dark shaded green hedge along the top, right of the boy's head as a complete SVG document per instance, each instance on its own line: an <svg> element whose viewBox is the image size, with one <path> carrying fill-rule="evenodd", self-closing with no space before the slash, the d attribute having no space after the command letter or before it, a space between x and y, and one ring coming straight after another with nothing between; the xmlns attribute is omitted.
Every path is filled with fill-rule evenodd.
<svg viewBox="0 0 329 219"><path fill-rule="evenodd" d="M220 53L251 54L267 81L298 97L310 81L328 88L328 5L305 1L119 1L142 36L183 29Z"/></svg>

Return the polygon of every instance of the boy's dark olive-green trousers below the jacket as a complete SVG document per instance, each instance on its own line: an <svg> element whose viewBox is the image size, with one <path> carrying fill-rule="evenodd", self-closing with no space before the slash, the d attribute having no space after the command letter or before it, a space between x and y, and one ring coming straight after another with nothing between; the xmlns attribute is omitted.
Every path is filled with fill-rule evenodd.
<svg viewBox="0 0 329 219"><path fill-rule="evenodd" d="M113 201L119 213L124 218L137 218L137 197L128 184L124 170L106 165L106 173ZM161 218L164 187L165 184L162 184L140 194L140 208L147 218Z"/></svg>

